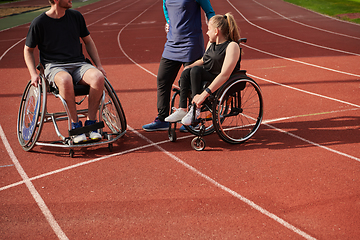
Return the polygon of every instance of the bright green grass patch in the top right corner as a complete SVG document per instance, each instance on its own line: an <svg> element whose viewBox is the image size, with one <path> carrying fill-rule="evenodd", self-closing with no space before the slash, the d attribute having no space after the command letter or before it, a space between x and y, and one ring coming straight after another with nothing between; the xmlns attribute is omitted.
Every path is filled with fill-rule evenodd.
<svg viewBox="0 0 360 240"><path fill-rule="evenodd" d="M339 14L360 13L360 0L285 0L286 2L311 9L328 16L337 17ZM346 21L360 23L360 18L341 18Z"/></svg>

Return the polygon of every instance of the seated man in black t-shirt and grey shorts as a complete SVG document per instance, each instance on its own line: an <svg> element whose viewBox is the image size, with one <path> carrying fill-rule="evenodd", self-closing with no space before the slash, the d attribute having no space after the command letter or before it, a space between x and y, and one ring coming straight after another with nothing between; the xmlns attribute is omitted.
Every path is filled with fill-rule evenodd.
<svg viewBox="0 0 360 240"><path fill-rule="evenodd" d="M96 113L104 89L103 69L95 43L86 27L82 14L72 7L71 0L49 0L50 10L36 17L26 37L24 58L31 76L31 84L37 86L40 77L35 69L34 49L38 46L40 63L45 68L45 77L49 84L59 89L65 99L72 121L72 128L82 127L76 111L74 84L89 85L89 109L85 126L96 122ZM96 65L85 62L82 44ZM97 131L89 133L91 140L100 140ZM73 138L74 143L87 141L85 134Z"/></svg>

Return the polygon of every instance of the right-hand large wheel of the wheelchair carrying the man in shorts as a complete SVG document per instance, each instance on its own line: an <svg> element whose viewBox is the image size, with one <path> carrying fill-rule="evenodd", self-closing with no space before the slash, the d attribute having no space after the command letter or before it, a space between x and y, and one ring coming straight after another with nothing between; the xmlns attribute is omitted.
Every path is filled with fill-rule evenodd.
<svg viewBox="0 0 360 240"><path fill-rule="evenodd" d="M105 78L105 101L102 111L102 119L113 134L120 134L126 130L126 118L120 101Z"/></svg>

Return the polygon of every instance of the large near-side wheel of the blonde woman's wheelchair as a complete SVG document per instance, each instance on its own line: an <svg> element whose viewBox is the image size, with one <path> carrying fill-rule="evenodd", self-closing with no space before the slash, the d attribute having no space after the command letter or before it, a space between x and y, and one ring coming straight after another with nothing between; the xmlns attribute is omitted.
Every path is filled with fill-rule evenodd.
<svg viewBox="0 0 360 240"><path fill-rule="evenodd" d="M257 83L252 79L229 82L216 99L214 127L221 139L236 144L251 138L263 117L263 99Z"/></svg>

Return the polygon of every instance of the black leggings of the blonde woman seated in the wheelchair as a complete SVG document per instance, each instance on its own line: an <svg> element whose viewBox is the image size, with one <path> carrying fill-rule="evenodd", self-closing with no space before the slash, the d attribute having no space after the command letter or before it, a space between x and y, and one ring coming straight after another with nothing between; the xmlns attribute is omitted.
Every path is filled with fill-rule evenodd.
<svg viewBox="0 0 360 240"><path fill-rule="evenodd" d="M180 108L187 108L187 97L191 90L191 98L201 93L203 82L211 83L216 75L206 71L203 66L185 69L180 77Z"/></svg>

